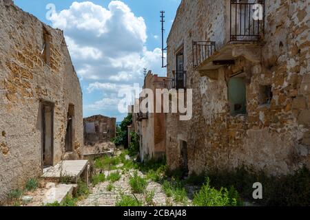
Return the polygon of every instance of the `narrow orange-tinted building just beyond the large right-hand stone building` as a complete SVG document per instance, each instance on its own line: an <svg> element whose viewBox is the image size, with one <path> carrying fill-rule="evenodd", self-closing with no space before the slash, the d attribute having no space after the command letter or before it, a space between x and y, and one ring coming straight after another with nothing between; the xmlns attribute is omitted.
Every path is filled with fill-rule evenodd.
<svg viewBox="0 0 310 220"><path fill-rule="evenodd" d="M154 111L156 107L156 89L165 89L165 79L165 77L152 74L151 71L145 76L143 89L151 89L153 91ZM148 97L148 94L145 94L145 96ZM139 99L138 104L141 104L145 96ZM161 107L163 108L163 105ZM165 155L165 113L163 111L161 113L143 113L141 111L136 113L133 118L134 123L136 123L133 126L138 129L141 161L163 157Z"/></svg>

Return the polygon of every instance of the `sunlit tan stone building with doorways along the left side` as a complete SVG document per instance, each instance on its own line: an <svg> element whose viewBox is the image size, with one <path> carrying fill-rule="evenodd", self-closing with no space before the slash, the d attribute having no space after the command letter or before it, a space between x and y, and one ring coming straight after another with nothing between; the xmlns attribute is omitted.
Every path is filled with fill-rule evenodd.
<svg viewBox="0 0 310 220"><path fill-rule="evenodd" d="M0 0L0 201L83 151L82 92L61 30Z"/></svg>

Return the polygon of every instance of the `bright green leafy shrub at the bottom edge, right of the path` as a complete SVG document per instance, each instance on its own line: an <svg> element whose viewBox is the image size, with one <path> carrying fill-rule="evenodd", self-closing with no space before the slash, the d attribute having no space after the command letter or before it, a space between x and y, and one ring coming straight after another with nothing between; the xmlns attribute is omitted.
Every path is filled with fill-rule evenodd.
<svg viewBox="0 0 310 220"><path fill-rule="evenodd" d="M207 178L200 191L195 193L193 204L194 206L238 206L238 192L234 188L229 191L227 188L220 188L220 190L211 188Z"/></svg>

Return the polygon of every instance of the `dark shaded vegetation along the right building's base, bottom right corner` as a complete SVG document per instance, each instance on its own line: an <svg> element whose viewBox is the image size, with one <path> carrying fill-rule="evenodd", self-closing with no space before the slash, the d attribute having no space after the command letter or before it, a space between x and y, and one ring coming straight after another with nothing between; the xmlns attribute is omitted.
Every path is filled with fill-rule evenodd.
<svg viewBox="0 0 310 220"><path fill-rule="evenodd" d="M293 174L274 177L265 172L242 166L234 171L208 172L210 185L215 188L234 186L240 195L253 200L253 184L263 186L263 198L255 202L262 206L310 206L310 170L306 167Z"/></svg>

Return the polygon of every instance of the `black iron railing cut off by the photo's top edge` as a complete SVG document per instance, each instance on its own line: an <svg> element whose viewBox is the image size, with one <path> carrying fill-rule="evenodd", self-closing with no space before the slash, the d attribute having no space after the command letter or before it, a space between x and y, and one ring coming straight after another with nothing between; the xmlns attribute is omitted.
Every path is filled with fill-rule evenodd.
<svg viewBox="0 0 310 220"><path fill-rule="evenodd" d="M230 1L230 41L260 41L265 34L265 0Z"/></svg>

